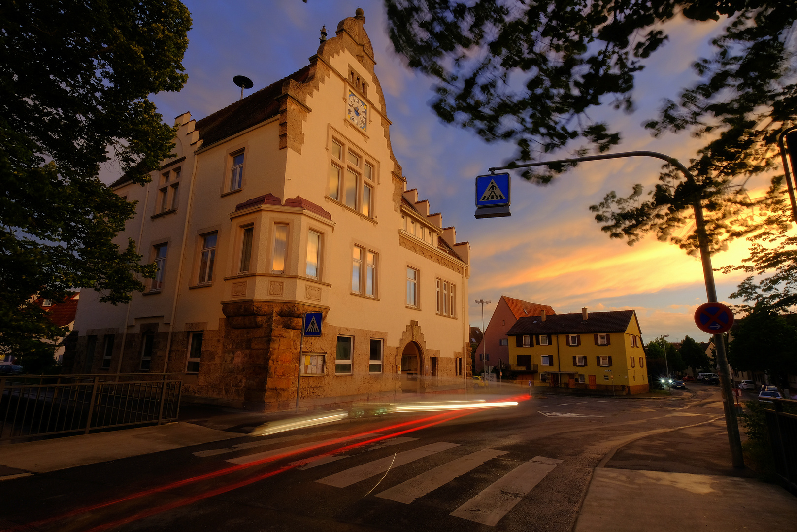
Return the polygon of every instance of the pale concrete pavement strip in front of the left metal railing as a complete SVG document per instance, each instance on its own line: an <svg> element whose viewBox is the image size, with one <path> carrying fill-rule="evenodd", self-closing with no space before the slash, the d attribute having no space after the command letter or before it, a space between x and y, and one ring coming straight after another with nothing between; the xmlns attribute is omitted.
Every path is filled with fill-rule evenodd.
<svg viewBox="0 0 797 532"><path fill-rule="evenodd" d="M170 423L153 427L128 428L66 438L16 443L2 447L0 479L29 473L46 473L90 463L108 462L168 451L200 443L239 438L241 434L223 432L190 423ZM5 473L5 475L3 475Z"/></svg>

